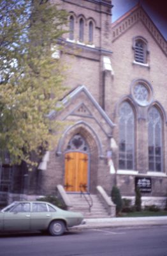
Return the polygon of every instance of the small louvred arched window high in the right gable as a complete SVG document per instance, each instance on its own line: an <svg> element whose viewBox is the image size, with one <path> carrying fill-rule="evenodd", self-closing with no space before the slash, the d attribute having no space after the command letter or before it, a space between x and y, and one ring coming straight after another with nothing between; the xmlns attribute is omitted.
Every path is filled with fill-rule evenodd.
<svg viewBox="0 0 167 256"><path fill-rule="evenodd" d="M135 41L134 60L139 63L147 63L147 45L141 39Z"/></svg>

